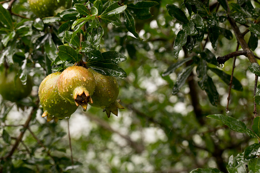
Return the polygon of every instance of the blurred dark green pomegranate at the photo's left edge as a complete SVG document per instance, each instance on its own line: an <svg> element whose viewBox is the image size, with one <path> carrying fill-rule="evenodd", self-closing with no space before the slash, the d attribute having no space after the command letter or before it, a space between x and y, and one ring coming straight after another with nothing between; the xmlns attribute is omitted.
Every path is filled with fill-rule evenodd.
<svg viewBox="0 0 260 173"><path fill-rule="evenodd" d="M17 69L9 67L0 71L0 94L5 100L20 101L31 93L32 87L33 82L30 76L27 77L26 85L22 85Z"/></svg>

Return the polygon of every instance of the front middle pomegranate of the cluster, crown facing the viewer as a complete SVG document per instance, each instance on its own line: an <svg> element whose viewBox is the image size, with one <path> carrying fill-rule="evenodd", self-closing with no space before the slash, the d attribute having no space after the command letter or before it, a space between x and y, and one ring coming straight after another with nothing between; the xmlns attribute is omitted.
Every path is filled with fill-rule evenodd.
<svg viewBox="0 0 260 173"><path fill-rule="evenodd" d="M58 79L60 95L71 104L81 105L87 110L87 104L93 103L91 95L94 93L96 82L92 72L81 66L66 68Z"/></svg>

